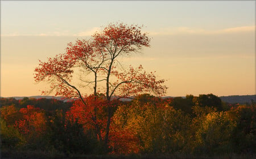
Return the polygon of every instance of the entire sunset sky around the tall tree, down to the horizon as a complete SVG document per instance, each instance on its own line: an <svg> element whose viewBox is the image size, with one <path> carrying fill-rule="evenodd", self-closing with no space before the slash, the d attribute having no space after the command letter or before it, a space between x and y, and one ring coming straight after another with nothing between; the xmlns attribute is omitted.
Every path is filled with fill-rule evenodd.
<svg viewBox="0 0 256 159"><path fill-rule="evenodd" d="M255 2L1 1L0 96L40 95L39 59L109 23L144 26L151 47L122 62L156 71L166 96L256 94Z"/></svg>

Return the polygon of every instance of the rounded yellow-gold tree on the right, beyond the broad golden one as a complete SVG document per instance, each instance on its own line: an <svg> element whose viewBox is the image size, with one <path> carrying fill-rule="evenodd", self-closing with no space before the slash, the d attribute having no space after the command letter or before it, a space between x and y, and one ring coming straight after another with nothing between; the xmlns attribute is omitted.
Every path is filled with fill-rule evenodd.
<svg viewBox="0 0 256 159"><path fill-rule="evenodd" d="M195 122L195 121L194 121ZM196 131L197 153L220 154L232 151L232 132L236 123L226 112L207 114Z"/></svg>

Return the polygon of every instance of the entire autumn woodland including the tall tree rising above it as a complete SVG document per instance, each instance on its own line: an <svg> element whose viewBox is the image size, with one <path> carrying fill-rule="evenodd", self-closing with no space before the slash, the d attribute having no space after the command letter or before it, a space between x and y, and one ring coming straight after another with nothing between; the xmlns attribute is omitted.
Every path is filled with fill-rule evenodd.
<svg viewBox="0 0 256 159"><path fill-rule="evenodd" d="M233 105L214 94L162 98L165 79L122 61L150 47L141 28L110 23L39 61L34 80L49 84L42 94L69 101L1 98L1 157L251 158L255 102Z"/></svg>

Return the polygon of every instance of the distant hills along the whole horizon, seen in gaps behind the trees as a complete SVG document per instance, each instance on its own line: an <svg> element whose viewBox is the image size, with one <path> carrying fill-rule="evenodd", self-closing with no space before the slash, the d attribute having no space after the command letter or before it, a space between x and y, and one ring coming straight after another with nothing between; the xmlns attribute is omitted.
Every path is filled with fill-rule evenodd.
<svg viewBox="0 0 256 159"><path fill-rule="evenodd" d="M169 98L170 96L166 96L163 98ZM7 98L15 98L16 100L22 100L24 97L7 97ZM28 98L55 98L56 100L62 100L63 97L54 97L54 96L30 96ZM174 98L174 97L172 97ZM183 97L185 98L185 97ZM251 101L253 100L254 102L256 102L256 94L255 95L245 95L245 96L220 96L219 98L221 98L222 101L224 102L228 102L229 104L246 104L246 103L251 103ZM131 99L125 99L125 101L130 101Z"/></svg>

